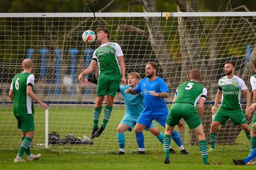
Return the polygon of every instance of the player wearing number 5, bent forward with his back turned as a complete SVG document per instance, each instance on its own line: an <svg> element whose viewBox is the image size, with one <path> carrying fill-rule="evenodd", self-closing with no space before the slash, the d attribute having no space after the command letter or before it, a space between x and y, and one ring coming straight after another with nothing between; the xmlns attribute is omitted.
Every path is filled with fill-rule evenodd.
<svg viewBox="0 0 256 170"><path fill-rule="evenodd" d="M204 129L201 123L201 116L204 112L204 101L206 100L207 90L199 84L201 74L198 69L190 71L190 81L184 82L178 86L172 107L170 108L166 119L166 127L164 133L164 164L170 164L168 147L170 147L170 133L175 125L179 126L181 118L188 124L188 127L194 131L198 138L198 147L202 154L203 164L208 164L208 149L205 140ZM198 111L196 109L199 101Z"/></svg>

